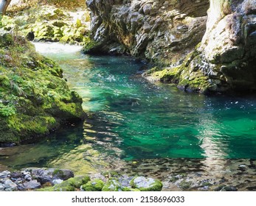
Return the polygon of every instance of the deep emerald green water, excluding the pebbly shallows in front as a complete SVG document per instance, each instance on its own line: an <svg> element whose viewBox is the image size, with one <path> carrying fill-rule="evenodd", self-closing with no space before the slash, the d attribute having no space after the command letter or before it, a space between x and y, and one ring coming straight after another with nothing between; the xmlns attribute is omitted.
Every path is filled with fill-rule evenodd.
<svg viewBox="0 0 256 206"><path fill-rule="evenodd" d="M184 93L146 81L140 76L142 64L131 58L90 57L77 47L64 51L51 45L37 47L63 67L89 119L47 141L5 152L2 165L58 166L76 157L76 167L94 153L99 160L111 155L122 160L256 159L255 96Z"/></svg>

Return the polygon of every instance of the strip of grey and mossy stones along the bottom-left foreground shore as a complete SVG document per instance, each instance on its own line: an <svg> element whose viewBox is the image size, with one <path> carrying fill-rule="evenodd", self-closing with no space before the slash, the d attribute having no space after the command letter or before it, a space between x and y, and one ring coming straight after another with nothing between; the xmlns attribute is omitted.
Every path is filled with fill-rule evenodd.
<svg viewBox="0 0 256 206"><path fill-rule="evenodd" d="M0 172L0 191L161 191L162 182L117 172L74 177L71 170L24 168Z"/></svg>

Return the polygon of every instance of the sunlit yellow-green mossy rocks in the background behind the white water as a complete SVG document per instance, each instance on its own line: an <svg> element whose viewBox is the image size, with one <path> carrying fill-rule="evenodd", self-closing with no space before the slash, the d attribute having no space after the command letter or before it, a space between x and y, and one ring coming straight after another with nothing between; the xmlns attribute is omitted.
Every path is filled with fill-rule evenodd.
<svg viewBox="0 0 256 206"><path fill-rule="evenodd" d="M83 45L89 35L89 11L73 13L54 5L33 5L21 12L21 15L4 16L2 26L5 30L15 30L27 37L33 33L35 41L60 41ZM24 13L24 15L23 15ZM30 15L27 15L30 13ZM79 15L78 15L79 13Z"/></svg>

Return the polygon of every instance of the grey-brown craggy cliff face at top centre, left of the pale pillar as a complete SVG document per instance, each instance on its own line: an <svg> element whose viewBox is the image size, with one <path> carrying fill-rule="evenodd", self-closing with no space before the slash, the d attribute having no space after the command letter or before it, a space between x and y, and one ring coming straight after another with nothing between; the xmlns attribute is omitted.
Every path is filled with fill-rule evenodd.
<svg viewBox="0 0 256 206"><path fill-rule="evenodd" d="M154 63L176 64L204 35L208 0L89 0L89 52L132 54Z"/></svg>

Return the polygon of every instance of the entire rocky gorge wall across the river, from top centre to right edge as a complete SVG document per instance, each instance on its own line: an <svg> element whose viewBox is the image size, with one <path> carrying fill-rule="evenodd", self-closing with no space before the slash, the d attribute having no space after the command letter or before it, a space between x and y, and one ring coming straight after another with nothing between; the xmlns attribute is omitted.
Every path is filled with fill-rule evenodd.
<svg viewBox="0 0 256 206"><path fill-rule="evenodd" d="M131 54L148 79L197 92L255 90L255 0L89 0L92 54ZM208 10L208 12L207 12Z"/></svg>

